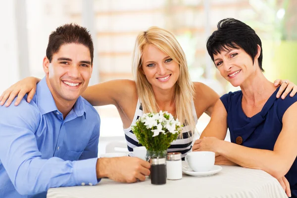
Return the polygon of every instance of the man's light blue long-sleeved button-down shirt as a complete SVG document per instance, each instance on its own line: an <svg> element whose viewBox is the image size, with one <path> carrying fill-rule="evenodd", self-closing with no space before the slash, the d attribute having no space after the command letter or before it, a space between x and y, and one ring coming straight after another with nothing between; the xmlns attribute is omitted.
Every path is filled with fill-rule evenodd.
<svg viewBox="0 0 297 198"><path fill-rule="evenodd" d="M0 198L97 184L99 127L98 112L82 97L63 119L45 78L30 103L0 106Z"/></svg>

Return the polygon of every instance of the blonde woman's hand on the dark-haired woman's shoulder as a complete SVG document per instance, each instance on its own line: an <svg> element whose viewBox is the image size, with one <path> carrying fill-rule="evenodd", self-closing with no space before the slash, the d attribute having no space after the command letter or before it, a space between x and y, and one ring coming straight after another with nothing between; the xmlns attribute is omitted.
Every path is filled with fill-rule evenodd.
<svg viewBox="0 0 297 198"><path fill-rule="evenodd" d="M290 97L294 97L297 93L297 85L292 83L289 80L280 80L277 79L274 81L274 86L278 87L281 86L278 93L276 94L276 98L280 98L282 96L282 99L285 99L287 95L291 92Z"/></svg>

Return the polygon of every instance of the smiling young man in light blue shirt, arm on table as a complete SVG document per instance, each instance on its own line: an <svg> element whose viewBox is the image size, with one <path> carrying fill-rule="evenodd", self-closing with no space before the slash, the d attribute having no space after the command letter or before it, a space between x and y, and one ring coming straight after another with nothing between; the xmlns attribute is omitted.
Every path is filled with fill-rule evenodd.
<svg viewBox="0 0 297 198"><path fill-rule="evenodd" d="M97 158L99 114L80 96L91 78L93 52L85 28L58 27L49 36L46 77L32 101L0 106L0 197L45 197L51 187L149 175L149 163L139 158Z"/></svg>

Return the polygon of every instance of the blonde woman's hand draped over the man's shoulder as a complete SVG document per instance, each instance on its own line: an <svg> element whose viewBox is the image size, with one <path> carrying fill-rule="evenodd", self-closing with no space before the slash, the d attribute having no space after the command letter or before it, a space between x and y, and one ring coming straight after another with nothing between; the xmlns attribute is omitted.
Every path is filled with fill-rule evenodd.
<svg viewBox="0 0 297 198"><path fill-rule="evenodd" d="M27 93L27 102L30 102L36 92L36 84L39 81L40 79L35 77L27 77L18 81L2 93L0 96L0 105L3 105L7 100L5 106L9 106L17 96L17 99L14 102L14 105L17 106Z"/></svg>

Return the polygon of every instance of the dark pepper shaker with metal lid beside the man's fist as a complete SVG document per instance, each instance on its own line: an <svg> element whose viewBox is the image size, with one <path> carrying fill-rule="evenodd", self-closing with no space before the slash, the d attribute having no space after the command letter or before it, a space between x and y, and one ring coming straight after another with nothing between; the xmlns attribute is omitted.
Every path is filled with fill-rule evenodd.
<svg viewBox="0 0 297 198"><path fill-rule="evenodd" d="M166 184L166 158L150 158L151 184Z"/></svg>

